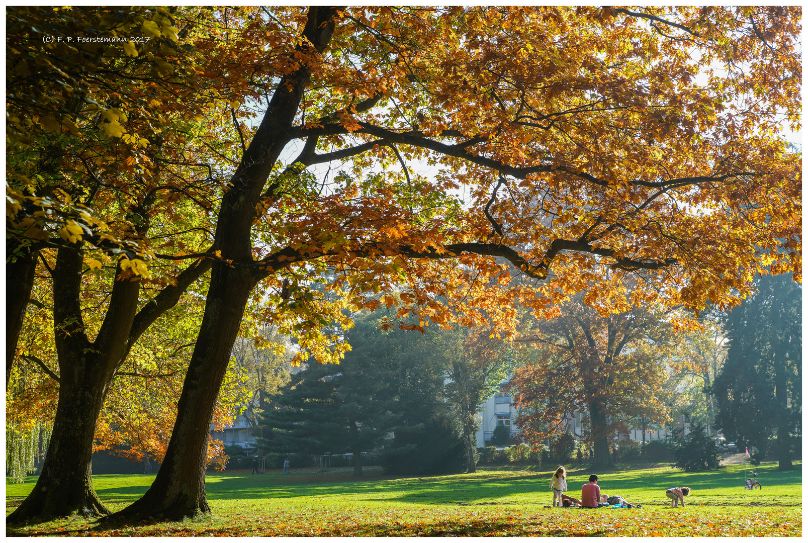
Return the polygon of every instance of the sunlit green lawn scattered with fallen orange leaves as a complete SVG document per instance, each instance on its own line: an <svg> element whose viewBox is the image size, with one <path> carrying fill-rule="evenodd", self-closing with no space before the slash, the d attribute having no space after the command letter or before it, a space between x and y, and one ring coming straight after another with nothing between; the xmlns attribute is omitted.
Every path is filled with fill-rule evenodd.
<svg viewBox="0 0 808 543"><path fill-rule="evenodd" d="M556 466L551 466L556 467ZM574 466L574 468L577 466ZM212 516L134 525L58 520L6 528L6 535L66 536L751 536L802 535L802 465L792 472L757 466L763 490L744 490L747 465L705 474L668 467L623 466L599 474L601 491L622 495L641 509L574 510L552 503L550 469L481 468L476 474L385 478L367 469L263 475L208 474ZM632 469L633 468L633 469ZM570 494L580 495L587 469L571 469ZM142 495L154 475L99 475L101 499L113 511ZM27 495L34 478L6 484L6 514ZM665 490L690 486L686 508L671 509ZM125 522L125 520L124 520Z"/></svg>

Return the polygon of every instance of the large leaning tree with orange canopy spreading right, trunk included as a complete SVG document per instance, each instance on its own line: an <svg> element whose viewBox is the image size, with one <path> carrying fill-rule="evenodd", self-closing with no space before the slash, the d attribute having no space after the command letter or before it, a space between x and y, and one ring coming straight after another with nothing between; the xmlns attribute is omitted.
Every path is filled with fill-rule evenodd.
<svg viewBox="0 0 808 543"><path fill-rule="evenodd" d="M261 120L219 154L211 249L183 255L211 267L204 318L166 460L123 516L209 510L207 427L259 285L267 324L328 362L339 305L508 335L516 305L541 318L583 290L610 305L638 272L631 303L688 308L731 305L770 265L800 277L800 158L776 135L799 124L798 8L204 14L177 14L177 44L261 97ZM310 282L328 270L326 300Z"/></svg>

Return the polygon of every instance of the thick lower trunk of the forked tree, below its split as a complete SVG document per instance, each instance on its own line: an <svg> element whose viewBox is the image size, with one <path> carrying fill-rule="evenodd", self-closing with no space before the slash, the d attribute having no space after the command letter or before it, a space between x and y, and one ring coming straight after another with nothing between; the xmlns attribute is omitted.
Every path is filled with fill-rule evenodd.
<svg viewBox="0 0 808 543"><path fill-rule="evenodd" d="M6 523L74 513L109 513L95 494L90 471L95 422L107 392L99 382L104 377L97 366L85 359L75 362L76 371L62 373L59 405L42 473L31 494L6 518Z"/></svg>

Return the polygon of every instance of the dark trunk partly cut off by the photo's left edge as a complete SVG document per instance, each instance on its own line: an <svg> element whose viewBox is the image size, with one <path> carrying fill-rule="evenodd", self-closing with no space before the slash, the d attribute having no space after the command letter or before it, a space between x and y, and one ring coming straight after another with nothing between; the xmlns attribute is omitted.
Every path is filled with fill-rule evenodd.
<svg viewBox="0 0 808 543"><path fill-rule="evenodd" d="M19 331L23 329L25 309L31 300L36 272L36 250L21 246L14 239L6 246L6 390L17 351Z"/></svg>

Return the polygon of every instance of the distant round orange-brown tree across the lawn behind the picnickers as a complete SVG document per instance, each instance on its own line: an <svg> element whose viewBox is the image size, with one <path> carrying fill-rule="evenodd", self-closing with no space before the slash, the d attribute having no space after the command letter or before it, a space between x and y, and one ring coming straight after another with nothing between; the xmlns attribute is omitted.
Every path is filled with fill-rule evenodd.
<svg viewBox="0 0 808 543"><path fill-rule="evenodd" d="M520 339L533 349L508 383L516 425L529 443L540 443L565 431L567 415L585 411L592 463L607 467L609 444L628 430L630 419L668 417L662 385L671 316L630 307L611 313L586 305L580 295L559 309L557 318L537 322Z"/></svg>

